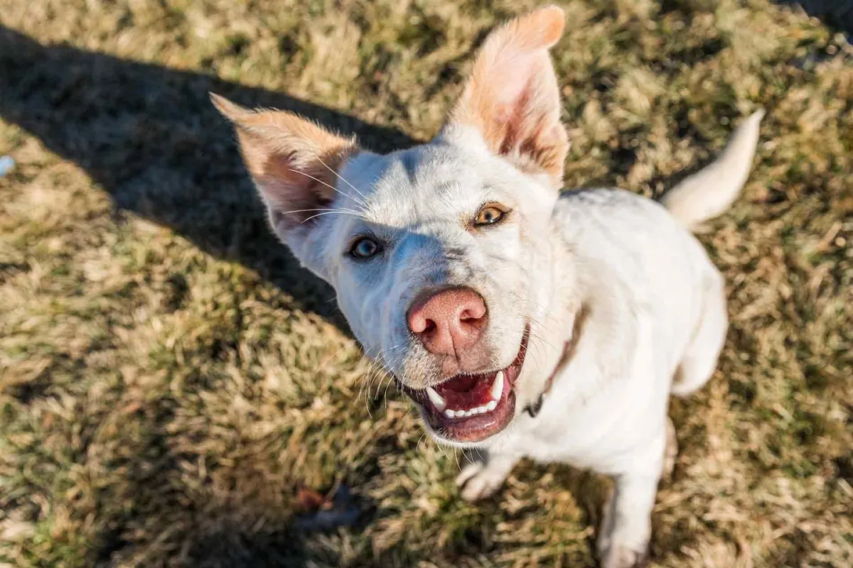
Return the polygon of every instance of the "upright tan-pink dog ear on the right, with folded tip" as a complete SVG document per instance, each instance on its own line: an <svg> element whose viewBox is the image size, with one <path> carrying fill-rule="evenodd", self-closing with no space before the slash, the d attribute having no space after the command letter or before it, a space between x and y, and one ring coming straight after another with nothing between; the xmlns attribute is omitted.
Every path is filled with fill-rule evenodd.
<svg viewBox="0 0 853 568"><path fill-rule="evenodd" d="M563 10L549 6L491 32L441 137L458 140L474 129L492 152L561 187L569 142L548 49L564 23Z"/></svg>

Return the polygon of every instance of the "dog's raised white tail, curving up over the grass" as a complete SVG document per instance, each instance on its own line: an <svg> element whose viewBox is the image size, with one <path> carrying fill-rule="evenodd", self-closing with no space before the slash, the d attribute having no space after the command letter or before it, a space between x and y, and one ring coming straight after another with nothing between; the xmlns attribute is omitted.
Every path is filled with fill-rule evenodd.
<svg viewBox="0 0 853 568"><path fill-rule="evenodd" d="M734 130L720 156L709 166L665 192L661 203L688 228L723 211L738 197L749 175L764 111L753 112Z"/></svg>

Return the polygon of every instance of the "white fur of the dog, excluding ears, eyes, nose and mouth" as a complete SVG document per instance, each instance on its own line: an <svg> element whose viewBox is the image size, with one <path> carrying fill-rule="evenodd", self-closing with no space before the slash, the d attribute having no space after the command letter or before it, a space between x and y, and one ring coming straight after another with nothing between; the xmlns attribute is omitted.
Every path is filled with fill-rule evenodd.
<svg viewBox="0 0 853 568"><path fill-rule="evenodd" d="M334 285L367 353L409 387L436 381L428 353L405 325L406 308L425 287L479 290L490 309L496 367L514 358L530 320L513 422L476 445L450 442L485 450L485 459L461 473L462 495L496 491L525 456L610 474L616 490L600 553L604 565L630 565L642 558L651 531L667 399L708 380L726 331L722 277L683 227L705 221L739 192L759 119L747 119L717 162L664 198L677 216L620 190L559 196L545 178L520 173L461 129L403 152L357 157L341 175L359 188L363 218L327 215L290 244ZM513 220L467 232L461 220L490 200L514 209ZM358 207L353 198L339 198L336 206L343 205ZM386 254L352 261L346 243L366 227ZM586 321L572 338L582 309ZM528 416L523 409L543 392L570 340L576 353L538 416Z"/></svg>

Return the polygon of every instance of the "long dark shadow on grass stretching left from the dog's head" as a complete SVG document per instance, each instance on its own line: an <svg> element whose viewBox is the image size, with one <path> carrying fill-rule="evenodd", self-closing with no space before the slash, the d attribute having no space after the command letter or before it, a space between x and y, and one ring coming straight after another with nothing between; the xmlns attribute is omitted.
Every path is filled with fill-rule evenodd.
<svg viewBox="0 0 853 568"><path fill-rule="evenodd" d="M266 225L208 92L243 106L297 112L377 152L411 146L397 129L200 73L43 46L0 26L0 117L78 164L129 211L170 227L200 250L239 261L349 334L332 291L299 267Z"/></svg>

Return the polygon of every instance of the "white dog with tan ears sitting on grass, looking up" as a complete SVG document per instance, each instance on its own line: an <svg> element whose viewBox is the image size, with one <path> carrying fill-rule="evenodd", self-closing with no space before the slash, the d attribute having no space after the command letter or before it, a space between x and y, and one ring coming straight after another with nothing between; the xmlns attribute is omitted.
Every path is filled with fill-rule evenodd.
<svg viewBox="0 0 853 568"><path fill-rule="evenodd" d="M378 155L290 112L212 95L270 225L334 287L432 437L468 450L466 499L522 457L612 476L601 565L641 564L671 467L671 394L711 377L722 275L690 229L732 204L763 112L659 201L560 192L569 148L548 54L557 7L496 29L436 138ZM669 464L667 462L670 462Z"/></svg>

